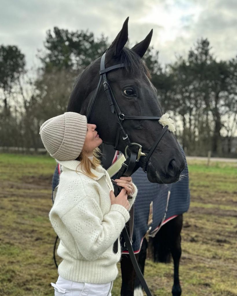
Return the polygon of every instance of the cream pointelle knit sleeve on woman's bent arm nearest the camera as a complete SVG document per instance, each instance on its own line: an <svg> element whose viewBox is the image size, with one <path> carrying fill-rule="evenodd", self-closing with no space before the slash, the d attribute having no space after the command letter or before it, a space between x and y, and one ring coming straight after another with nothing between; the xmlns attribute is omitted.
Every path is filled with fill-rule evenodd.
<svg viewBox="0 0 237 296"><path fill-rule="evenodd" d="M51 213L51 220L55 220ZM75 246L87 260L96 260L119 237L129 213L125 207L111 205L103 216L95 197L85 197L61 217L61 222L73 236ZM60 237L63 240L63 237Z"/></svg>

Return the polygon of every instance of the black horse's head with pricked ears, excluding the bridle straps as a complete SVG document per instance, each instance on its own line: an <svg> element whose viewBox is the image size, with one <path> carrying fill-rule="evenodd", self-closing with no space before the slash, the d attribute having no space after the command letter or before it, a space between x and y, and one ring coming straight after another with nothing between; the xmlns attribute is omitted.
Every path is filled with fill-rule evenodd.
<svg viewBox="0 0 237 296"><path fill-rule="evenodd" d="M156 89L149 80L149 72L141 60L150 44L152 30L148 36L127 49L124 45L128 39L128 18L123 28L108 48L105 57L105 67L124 63L123 68L117 68L107 73L119 109L122 113L132 116L161 116L162 111L157 99ZM82 73L71 93L68 111L87 115L100 79L100 60L96 59ZM111 112L108 98L105 95L103 84L98 89L89 123L97 125L97 131L105 144L115 147L116 134L119 128L116 113ZM163 126L158 120L124 120L121 122L129 139L140 144L142 151L148 154ZM127 144L122 135L119 136L118 149L125 152ZM133 146L131 150L137 151ZM142 166L141 157L139 164ZM148 179L154 183L172 183L179 179L185 168L185 161L180 146L173 133L166 131L156 148L153 150L147 164Z"/></svg>

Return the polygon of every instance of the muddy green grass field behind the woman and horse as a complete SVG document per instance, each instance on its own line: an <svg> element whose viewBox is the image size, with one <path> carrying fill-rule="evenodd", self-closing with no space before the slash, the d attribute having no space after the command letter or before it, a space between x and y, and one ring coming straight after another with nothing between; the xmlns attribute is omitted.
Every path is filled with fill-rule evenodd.
<svg viewBox="0 0 237 296"><path fill-rule="evenodd" d="M191 205L184 215L184 296L236 296L237 163L190 160ZM55 161L0 154L0 296L53 296L55 233L48 213ZM118 264L119 268L119 264ZM120 268L119 268L120 270ZM146 261L154 296L171 295L173 265ZM121 276L112 296L120 295ZM145 295L145 294L144 294Z"/></svg>

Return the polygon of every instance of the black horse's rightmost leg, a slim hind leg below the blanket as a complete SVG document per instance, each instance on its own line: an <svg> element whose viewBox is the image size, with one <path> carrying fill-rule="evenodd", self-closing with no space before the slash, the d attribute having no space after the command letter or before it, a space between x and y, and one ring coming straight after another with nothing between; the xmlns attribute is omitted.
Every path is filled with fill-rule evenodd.
<svg viewBox="0 0 237 296"><path fill-rule="evenodd" d="M173 223L171 223L173 222ZM180 287L180 280L179 280L179 263L181 257L181 229L183 223L183 215L179 215L178 217L174 218L173 220L169 221L172 225L170 225L173 229L173 239L171 239L170 250L174 260L174 285L172 288L172 295L173 296L180 296L181 295L181 287Z"/></svg>

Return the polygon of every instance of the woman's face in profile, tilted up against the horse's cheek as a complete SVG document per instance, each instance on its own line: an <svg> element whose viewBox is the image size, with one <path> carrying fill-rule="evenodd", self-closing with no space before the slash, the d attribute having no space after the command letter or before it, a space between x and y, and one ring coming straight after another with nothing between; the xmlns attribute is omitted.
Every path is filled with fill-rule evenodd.
<svg viewBox="0 0 237 296"><path fill-rule="evenodd" d="M95 129L95 124L87 123L87 134L83 145L83 150L87 152L87 156L92 156L93 150L103 142Z"/></svg>

